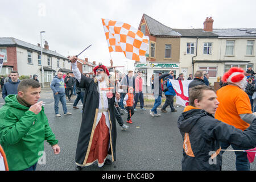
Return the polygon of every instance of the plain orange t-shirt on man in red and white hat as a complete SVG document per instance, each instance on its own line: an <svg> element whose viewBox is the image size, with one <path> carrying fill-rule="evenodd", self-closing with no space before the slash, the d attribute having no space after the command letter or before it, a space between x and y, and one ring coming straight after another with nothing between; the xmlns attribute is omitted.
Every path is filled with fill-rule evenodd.
<svg viewBox="0 0 256 182"><path fill-rule="evenodd" d="M214 117L240 130L249 127L239 114L251 114L250 99L238 86L226 85L217 90L217 100L220 102Z"/></svg>

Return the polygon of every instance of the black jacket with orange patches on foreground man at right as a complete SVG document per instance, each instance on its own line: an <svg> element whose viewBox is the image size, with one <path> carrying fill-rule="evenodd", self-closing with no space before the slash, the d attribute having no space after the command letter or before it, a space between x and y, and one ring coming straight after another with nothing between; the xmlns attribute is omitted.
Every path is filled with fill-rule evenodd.
<svg viewBox="0 0 256 182"><path fill-rule="evenodd" d="M205 110L193 107L182 113L177 123L184 140L182 170L221 170L220 142L235 144L245 150L256 146L256 119L242 131L214 119ZM216 156L210 159L213 153Z"/></svg>

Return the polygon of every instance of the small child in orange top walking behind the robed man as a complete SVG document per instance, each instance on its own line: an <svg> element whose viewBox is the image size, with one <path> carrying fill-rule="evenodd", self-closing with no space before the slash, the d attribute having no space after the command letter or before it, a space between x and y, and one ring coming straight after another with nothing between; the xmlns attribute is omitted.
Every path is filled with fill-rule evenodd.
<svg viewBox="0 0 256 182"><path fill-rule="evenodd" d="M134 95L133 95L133 87L129 87L129 93L125 95L125 98L123 98L123 104L126 106L126 110L128 112L128 117L127 117L127 123L133 123L131 121L131 116L134 114Z"/></svg>

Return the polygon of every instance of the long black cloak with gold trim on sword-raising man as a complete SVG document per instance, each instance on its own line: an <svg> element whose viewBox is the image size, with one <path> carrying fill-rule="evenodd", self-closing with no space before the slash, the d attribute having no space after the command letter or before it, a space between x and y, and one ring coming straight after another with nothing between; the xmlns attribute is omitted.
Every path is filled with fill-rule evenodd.
<svg viewBox="0 0 256 182"><path fill-rule="evenodd" d="M77 166L85 166L90 151L90 145L92 144L93 131L96 127L100 93L98 92L98 82L94 82L92 78L85 77L82 74L81 81L77 81L77 86L85 88L86 91L82 107L82 123L76 148L76 164ZM117 140L114 100L115 96L108 98L110 121L110 147L108 154L112 155L112 162L116 160L115 144Z"/></svg>

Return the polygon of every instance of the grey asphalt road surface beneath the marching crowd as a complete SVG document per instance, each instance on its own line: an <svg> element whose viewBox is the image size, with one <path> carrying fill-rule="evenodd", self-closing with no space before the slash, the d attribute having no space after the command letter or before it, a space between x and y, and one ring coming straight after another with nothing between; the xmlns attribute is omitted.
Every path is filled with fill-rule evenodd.
<svg viewBox="0 0 256 182"><path fill-rule="evenodd" d="M43 88L40 100L46 102L45 113L49 126L56 139L59 140L60 154L54 155L51 146L44 142L45 160L36 167L37 171L74 171L77 138L81 125L81 101L77 105L80 109L73 109L71 102L67 101L68 111L72 115L63 115L62 106L59 105L61 117L55 117L54 100L51 89ZM4 104L0 98L0 108ZM138 107L139 108L139 107ZM160 117L152 118L149 109L135 111L131 117L132 124L126 123L127 115L122 115L123 121L129 125L126 131L121 130L117 123L117 161L114 165L85 168L84 171L180 171L183 158L183 139L177 129L177 119L184 107L177 107L176 113L161 113ZM236 170L236 156L234 152L225 152L222 160L223 171ZM256 162L251 163L251 171L256 170Z"/></svg>

